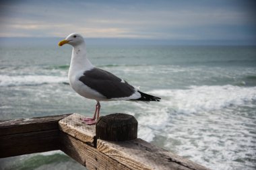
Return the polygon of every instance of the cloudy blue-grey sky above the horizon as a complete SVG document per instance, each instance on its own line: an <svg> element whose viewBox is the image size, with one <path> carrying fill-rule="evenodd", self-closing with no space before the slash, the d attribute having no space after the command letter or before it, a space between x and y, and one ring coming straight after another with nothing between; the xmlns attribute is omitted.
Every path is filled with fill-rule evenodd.
<svg viewBox="0 0 256 170"><path fill-rule="evenodd" d="M256 1L1 1L0 37L223 40L256 44Z"/></svg>

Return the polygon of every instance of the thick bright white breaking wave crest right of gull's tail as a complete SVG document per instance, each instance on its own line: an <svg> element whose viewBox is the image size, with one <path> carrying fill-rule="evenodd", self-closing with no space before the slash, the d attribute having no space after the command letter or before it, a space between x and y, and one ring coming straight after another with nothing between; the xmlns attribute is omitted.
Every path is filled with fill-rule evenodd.
<svg viewBox="0 0 256 170"><path fill-rule="evenodd" d="M256 87L234 85L191 86L188 89L160 89L149 93L162 97L162 105L184 113L210 112L230 106L250 105L256 101Z"/></svg>

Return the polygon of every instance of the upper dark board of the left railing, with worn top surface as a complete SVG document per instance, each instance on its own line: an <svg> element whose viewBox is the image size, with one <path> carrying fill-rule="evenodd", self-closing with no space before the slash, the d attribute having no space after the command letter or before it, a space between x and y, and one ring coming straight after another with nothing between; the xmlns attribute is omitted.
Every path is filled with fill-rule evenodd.
<svg viewBox="0 0 256 170"><path fill-rule="evenodd" d="M70 114L63 114L58 116L2 120L0 122L0 135L20 134L27 132L38 132L42 130L58 129L59 120L69 115Z"/></svg>

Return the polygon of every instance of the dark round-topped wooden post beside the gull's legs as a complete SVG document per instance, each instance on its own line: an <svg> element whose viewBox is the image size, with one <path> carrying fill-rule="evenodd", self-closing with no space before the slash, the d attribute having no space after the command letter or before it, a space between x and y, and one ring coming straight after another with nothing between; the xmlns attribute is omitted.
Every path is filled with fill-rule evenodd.
<svg viewBox="0 0 256 170"><path fill-rule="evenodd" d="M129 114L102 116L96 124L96 138L125 141L137 138L137 120Z"/></svg>

